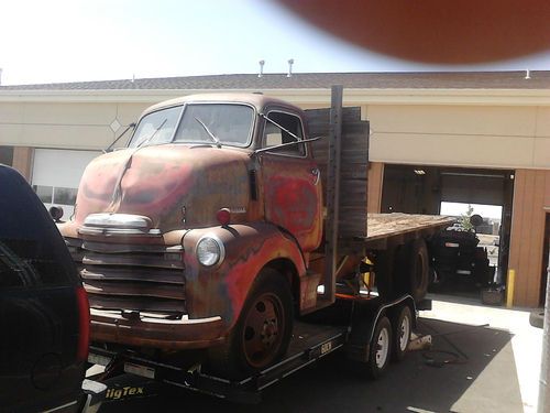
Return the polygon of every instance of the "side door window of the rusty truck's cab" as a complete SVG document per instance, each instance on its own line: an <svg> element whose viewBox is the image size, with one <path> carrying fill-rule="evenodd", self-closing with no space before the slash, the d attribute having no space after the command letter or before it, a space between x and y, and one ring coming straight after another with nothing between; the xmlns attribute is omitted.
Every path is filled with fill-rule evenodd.
<svg viewBox="0 0 550 413"><path fill-rule="evenodd" d="M265 148L276 146L283 143L296 142L296 137L304 138L300 118L284 113L284 112L268 112L267 118L273 120L273 122L265 120L264 129L264 145ZM277 127L275 123L279 124L282 128ZM293 134L288 132L292 132ZM273 153L280 153L294 156L304 156L306 154L306 148L304 144L288 145L286 148L277 149Z"/></svg>

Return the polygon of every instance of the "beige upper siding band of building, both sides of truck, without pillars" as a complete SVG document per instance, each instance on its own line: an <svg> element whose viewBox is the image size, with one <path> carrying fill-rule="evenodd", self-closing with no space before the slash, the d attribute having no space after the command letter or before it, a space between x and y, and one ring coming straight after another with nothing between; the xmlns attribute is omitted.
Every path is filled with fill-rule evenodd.
<svg viewBox="0 0 550 413"><path fill-rule="evenodd" d="M284 97L305 108L323 106L323 102L305 104L301 97L288 93ZM100 150L156 101L154 97L141 102L0 101L0 144ZM370 104L362 107L371 121L371 161L550 167L550 106Z"/></svg>

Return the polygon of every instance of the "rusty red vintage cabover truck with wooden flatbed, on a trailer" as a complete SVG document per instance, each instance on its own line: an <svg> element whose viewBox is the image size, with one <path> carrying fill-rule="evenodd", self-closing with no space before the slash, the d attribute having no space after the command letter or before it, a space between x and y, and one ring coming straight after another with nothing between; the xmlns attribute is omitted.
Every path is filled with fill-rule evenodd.
<svg viewBox="0 0 550 413"><path fill-rule="evenodd" d="M193 355L195 374L234 379L305 348L299 360L343 346L371 376L403 357L425 239L450 219L366 214L369 122L341 100L338 87L309 111L262 94L168 100L88 165L59 228L89 294L92 361ZM323 324L346 303L345 326Z"/></svg>

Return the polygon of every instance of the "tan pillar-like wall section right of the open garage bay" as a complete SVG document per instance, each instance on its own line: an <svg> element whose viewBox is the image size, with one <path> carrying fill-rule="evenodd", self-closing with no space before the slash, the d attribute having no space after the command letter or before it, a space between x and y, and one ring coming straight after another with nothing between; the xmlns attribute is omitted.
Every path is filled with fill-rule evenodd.
<svg viewBox="0 0 550 413"><path fill-rule="evenodd" d="M546 214L550 213L550 171L517 170L509 269L516 273L514 304L539 304Z"/></svg>

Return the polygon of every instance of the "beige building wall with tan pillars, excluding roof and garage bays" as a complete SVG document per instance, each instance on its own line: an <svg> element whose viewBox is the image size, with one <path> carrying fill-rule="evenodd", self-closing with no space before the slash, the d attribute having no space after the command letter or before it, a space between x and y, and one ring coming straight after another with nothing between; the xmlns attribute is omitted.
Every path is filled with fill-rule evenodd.
<svg viewBox="0 0 550 413"><path fill-rule="evenodd" d="M152 104L193 91L79 91L0 96L0 145L32 176L34 148L101 150ZM330 105L328 90L264 90L304 108ZM491 96L490 96L491 95ZM543 207L550 206L547 91L351 90L371 121L369 211L378 211L384 163L517 170L510 269L517 305L536 306Z"/></svg>

